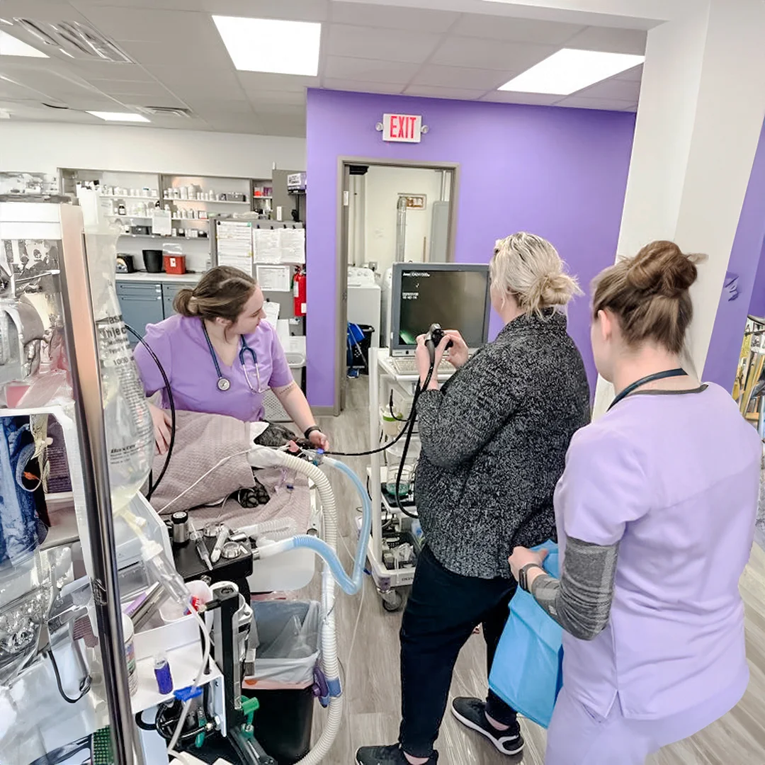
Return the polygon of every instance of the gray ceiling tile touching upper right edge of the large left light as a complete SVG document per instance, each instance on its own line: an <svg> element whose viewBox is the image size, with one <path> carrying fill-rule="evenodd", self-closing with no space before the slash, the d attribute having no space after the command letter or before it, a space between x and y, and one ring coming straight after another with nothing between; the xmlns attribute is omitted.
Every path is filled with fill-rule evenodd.
<svg viewBox="0 0 765 765"><path fill-rule="evenodd" d="M440 41L441 35L429 32L330 24L325 53L330 56L422 63Z"/></svg>

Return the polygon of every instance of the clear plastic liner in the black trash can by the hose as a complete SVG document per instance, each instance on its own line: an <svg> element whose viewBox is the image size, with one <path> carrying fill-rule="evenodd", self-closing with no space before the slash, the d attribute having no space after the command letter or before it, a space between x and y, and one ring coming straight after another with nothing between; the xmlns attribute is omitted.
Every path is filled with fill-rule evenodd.
<svg viewBox="0 0 765 765"><path fill-rule="evenodd" d="M300 690L313 685L321 653L321 604L254 601L252 613L259 645L255 675L243 680L243 688Z"/></svg>

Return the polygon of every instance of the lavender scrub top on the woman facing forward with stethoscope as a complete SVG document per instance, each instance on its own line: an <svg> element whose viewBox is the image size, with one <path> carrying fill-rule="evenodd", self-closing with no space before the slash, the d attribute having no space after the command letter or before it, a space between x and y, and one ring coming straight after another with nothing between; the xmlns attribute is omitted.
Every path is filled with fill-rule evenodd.
<svg viewBox="0 0 765 765"><path fill-rule="evenodd" d="M280 388L293 381L276 330L267 321L261 321L255 332L245 335L245 339L258 360L260 386L252 356L249 351L244 353L244 363L253 389ZM158 324L148 324L144 340L164 366L176 409L229 415L244 422L262 420L265 414L264 393L253 393L247 385L239 353L232 366L226 366L218 360L221 374L231 382L228 390L218 390L218 374L200 319L175 314ZM146 395L152 396L164 389L164 380L157 364L141 343L135 348L134 356ZM162 402L169 408L164 393Z"/></svg>

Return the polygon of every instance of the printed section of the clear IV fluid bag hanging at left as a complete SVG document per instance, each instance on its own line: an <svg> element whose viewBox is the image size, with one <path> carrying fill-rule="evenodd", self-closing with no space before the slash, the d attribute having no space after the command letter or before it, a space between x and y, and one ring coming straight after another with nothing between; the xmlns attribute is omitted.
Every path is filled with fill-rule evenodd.
<svg viewBox="0 0 765 765"><path fill-rule="evenodd" d="M122 316L96 321L109 466L136 470L140 486L151 466L154 428ZM131 472L132 472L131 470ZM114 476L112 476L113 480ZM138 476L135 476L138 479ZM130 481L132 483L132 481ZM116 487L112 486L112 489Z"/></svg>

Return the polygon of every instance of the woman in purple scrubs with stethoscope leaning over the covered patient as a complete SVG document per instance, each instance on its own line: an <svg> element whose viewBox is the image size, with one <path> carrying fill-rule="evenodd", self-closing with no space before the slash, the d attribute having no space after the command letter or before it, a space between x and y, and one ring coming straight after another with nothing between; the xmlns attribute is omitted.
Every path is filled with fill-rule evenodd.
<svg viewBox="0 0 765 765"><path fill-rule="evenodd" d="M239 269L219 265L192 289L175 297L177 312L146 327L145 340L170 380L176 409L229 415L244 422L262 420L263 396L270 389L312 444L326 449L311 407L295 384L276 330L263 311L263 293ZM164 390L155 361L141 344L135 362L147 396ZM170 442L166 394L162 407L150 405L161 454Z"/></svg>

